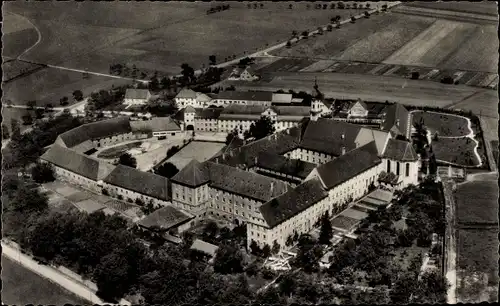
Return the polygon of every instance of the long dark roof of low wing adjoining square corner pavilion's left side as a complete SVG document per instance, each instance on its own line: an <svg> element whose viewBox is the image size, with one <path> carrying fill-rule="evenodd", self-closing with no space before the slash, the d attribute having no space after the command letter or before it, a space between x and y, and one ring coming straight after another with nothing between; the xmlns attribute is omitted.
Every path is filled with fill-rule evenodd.
<svg viewBox="0 0 500 306"><path fill-rule="evenodd" d="M157 199L170 200L168 179L150 172L118 165L103 181Z"/></svg>

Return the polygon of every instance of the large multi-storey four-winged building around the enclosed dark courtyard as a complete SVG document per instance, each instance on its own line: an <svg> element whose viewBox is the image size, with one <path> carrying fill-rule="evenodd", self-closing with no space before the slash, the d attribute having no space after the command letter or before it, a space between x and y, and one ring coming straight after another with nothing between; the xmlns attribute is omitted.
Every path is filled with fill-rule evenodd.
<svg viewBox="0 0 500 306"><path fill-rule="evenodd" d="M418 183L418 169L411 143L390 132L320 118L191 162L171 179L172 203L199 217L245 222L248 244L283 247L326 211L363 197L381 174L393 173L393 187L402 188Z"/></svg>

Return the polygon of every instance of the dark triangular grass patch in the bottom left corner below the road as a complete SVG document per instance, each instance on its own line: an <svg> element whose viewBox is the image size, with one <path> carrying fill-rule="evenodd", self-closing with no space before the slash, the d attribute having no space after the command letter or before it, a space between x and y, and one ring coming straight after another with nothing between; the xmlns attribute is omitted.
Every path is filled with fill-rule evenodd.
<svg viewBox="0 0 500 306"><path fill-rule="evenodd" d="M89 302L2 256L2 303L84 305Z"/></svg>

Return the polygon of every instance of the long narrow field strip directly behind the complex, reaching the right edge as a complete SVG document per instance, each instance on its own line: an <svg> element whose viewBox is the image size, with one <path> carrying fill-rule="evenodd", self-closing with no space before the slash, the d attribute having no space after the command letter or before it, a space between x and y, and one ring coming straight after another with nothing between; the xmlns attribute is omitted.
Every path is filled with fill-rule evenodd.
<svg viewBox="0 0 500 306"><path fill-rule="evenodd" d="M406 80L387 76L359 75L346 73L305 73L279 72L270 75L270 81L252 82L224 81L223 86L234 85L238 90L284 90L312 92L314 79L317 78L319 89L327 98L362 99L366 101L389 102L417 106L452 107L464 99L467 107L474 112L496 106L498 98L495 92L465 85L445 85L424 80ZM218 84L217 86L221 86ZM474 93L482 94L482 101L476 101ZM470 99L468 99L470 97ZM465 100L464 100L465 101ZM464 108L465 107L460 107ZM495 111L496 113L496 111Z"/></svg>

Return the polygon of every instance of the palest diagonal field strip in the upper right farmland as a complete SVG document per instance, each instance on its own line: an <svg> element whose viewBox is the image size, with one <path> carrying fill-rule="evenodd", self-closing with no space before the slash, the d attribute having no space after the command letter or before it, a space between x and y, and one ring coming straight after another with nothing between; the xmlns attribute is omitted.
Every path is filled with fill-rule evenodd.
<svg viewBox="0 0 500 306"><path fill-rule="evenodd" d="M459 25L457 22L437 20L383 62L400 65L425 65L420 62L421 58Z"/></svg>

